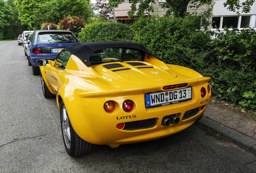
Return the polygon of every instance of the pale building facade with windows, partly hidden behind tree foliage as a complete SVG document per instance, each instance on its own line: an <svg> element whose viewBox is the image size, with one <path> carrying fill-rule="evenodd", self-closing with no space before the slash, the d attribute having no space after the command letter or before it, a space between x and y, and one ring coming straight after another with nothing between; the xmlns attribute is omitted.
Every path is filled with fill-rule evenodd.
<svg viewBox="0 0 256 173"><path fill-rule="evenodd" d="M235 12L230 12L226 7L223 6L223 3L226 0L213 0L211 5L200 6L199 8L188 8L188 12L202 12L204 10L208 10L213 6L213 18L212 18L212 26L211 30L216 31L217 28L220 30L224 30L225 26L227 28L256 28L256 2L251 7L249 13L240 12L240 16L237 16ZM245 0L240 0L240 2L244 2ZM140 2L140 1L139 1ZM163 16L166 12L166 9L161 8L161 4L165 3L165 0L156 0L155 4L152 4L154 12L150 13L151 15L159 15ZM138 8L140 3L136 4ZM119 4L118 8L114 9L114 21L122 22L125 24L134 22L135 18L130 18L128 20L127 12L131 9L131 2L129 0L125 0L122 4Z"/></svg>

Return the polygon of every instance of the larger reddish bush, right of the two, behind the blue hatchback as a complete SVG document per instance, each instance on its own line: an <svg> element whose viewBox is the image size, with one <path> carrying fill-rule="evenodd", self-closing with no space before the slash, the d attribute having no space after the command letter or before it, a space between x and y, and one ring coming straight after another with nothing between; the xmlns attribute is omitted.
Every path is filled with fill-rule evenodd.
<svg viewBox="0 0 256 173"><path fill-rule="evenodd" d="M61 30L70 30L75 35L78 35L78 33L81 32L82 28L84 27L85 22L76 16L66 17L60 21Z"/></svg>

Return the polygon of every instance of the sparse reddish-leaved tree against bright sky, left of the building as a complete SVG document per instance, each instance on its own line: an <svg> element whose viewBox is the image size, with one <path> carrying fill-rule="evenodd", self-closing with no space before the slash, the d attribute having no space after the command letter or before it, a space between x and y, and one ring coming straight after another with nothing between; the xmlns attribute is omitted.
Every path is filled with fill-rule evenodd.
<svg viewBox="0 0 256 173"><path fill-rule="evenodd" d="M110 10L107 0L96 0L95 8L99 12L100 18L109 22L113 20L113 10Z"/></svg>

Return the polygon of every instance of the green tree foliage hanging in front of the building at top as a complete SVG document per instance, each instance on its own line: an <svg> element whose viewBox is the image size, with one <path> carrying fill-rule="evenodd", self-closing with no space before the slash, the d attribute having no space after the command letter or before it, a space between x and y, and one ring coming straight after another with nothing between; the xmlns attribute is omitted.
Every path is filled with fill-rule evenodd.
<svg viewBox="0 0 256 173"><path fill-rule="evenodd" d="M138 3L138 1L139 0L131 0L132 9L128 12L130 17L134 16L137 10L137 16L143 16L153 12L153 8L149 4L155 4L155 0L143 0L140 2L139 8L136 9L135 4ZM223 5L227 7L228 10L236 12L237 14L239 14L240 9L242 9L242 12L247 13L250 11L254 1L255 0L245 0L245 2L241 3L240 0L227 0ZM121 0L121 2L124 2L124 0ZM167 14L173 12L176 17L184 17L188 7L199 7L203 4L211 4L212 0L193 0L191 1L191 6L188 6L189 3L190 0L166 0L166 3L162 4L161 6L162 8L168 9ZM111 4L112 7L118 7L120 0L109 0L109 4Z"/></svg>

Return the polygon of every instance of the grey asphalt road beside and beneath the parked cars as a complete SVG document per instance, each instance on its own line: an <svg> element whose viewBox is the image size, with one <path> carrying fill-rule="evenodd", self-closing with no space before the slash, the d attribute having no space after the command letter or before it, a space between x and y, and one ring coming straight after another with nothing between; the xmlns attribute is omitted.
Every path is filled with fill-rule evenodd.
<svg viewBox="0 0 256 173"><path fill-rule="evenodd" d="M43 97L23 46L0 42L0 172L250 173L256 157L196 126L143 143L93 146L72 158L64 148L56 99Z"/></svg>

